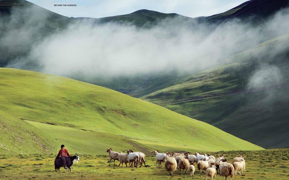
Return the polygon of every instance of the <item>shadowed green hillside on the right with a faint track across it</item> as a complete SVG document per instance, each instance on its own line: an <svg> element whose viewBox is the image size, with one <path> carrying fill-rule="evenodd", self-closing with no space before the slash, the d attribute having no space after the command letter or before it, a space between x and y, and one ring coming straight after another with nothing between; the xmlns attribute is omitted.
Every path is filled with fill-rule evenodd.
<svg viewBox="0 0 289 180"><path fill-rule="evenodd" d="M193 74L141 99L207 122L262 147L288 147L289 141L284 136L289 115L288 56L284 52L275 57L265 56L268 54L265 52L275 52L288 40L288 34L271 39L232 57L235 63ZM272 84L248 89L250 78L261 65L278 67L281 84L274 85L271 75L263 74L265 79L261 77L258 82L269 79Z"/></svg>

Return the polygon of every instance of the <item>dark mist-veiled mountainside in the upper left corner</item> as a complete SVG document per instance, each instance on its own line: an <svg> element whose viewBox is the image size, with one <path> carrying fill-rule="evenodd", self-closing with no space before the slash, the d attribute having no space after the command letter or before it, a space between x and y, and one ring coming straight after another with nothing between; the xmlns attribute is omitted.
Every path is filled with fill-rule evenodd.
<svg viewBox="0 0 289 180"><path fill-rule="evenodd" d="M71 21L25 0L0 1L0 67L25 57L34 43L65 29Z"/></svg>

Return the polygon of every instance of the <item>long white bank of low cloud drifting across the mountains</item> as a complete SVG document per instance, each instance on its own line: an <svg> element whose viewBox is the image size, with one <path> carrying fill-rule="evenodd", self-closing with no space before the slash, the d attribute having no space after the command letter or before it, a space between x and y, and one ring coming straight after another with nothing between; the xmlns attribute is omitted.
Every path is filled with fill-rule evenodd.
<svg viewBox="0 0 289 180"><path fill-rule="evenodd" d="M33 16L27 13L33 19L24 22L17 33L5 33L0 46L13 49L16 43L20 49L29 47L30 51L14 58L7 67L66 77L77 74L81 77L118 77L173 70L194 73L231 62L232 55L289 29L288 11L283 10L258 27L238 20L212 27L194 21L166 19L152 28L83 20L42 39L37 34L43 23L40 27L31 26L40 20L37 13ZM12 16L11 21L17 19ZM24 38L17 38L20 34ZM272 73L275 71L273 68ZM251 84L254 84L253 80Z"/></svg>

